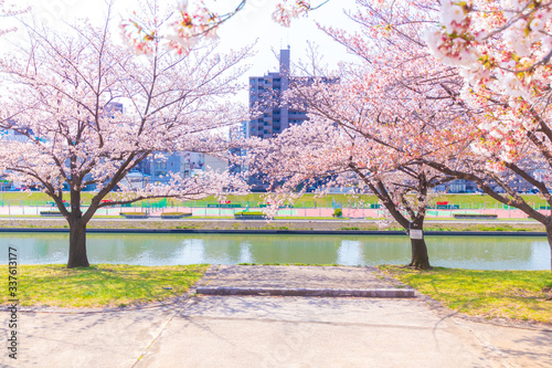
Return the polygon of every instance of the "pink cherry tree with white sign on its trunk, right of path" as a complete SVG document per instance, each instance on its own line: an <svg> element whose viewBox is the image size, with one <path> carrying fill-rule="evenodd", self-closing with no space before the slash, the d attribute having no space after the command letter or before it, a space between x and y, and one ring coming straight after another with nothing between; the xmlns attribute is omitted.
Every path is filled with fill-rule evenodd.
<svg viewBox="0 0 552 368"><path fill-rule="evenodd" d="M351 17L361 32L326 31L360 63L342 64L336 84L291 78L288 104L307 108L311 120L272 143L258 143L264 154L255 158L256 166L274 182L285 181L279 188L285 193L325 177L333 186L374 193L411 233L423 230L431 189L454 179L420 158L452 166L448 161L457 161L474 139L470 130L458 128L465 112L456 99L461 80L425 49L415 23L433 14L403 9L399 21L396 13L375 13L368 2L359 3L364 8ZM395 30L385 29L389 17ZM411 235L410 265L428 269L424 239L417 239L417 231Z"/></svg>

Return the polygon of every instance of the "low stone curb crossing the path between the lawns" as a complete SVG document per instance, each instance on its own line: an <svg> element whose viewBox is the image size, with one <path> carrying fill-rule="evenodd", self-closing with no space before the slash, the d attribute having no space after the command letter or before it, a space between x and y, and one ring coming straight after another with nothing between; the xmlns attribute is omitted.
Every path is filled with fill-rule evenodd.
<svg viewBox="0 0 552 368"><path fill-rule="evenodd" d="M288 287L227 287L199 286L203 295L258 295L258 296L330 296L330 297L415 297L413 288L288 288Z"/></svg>

